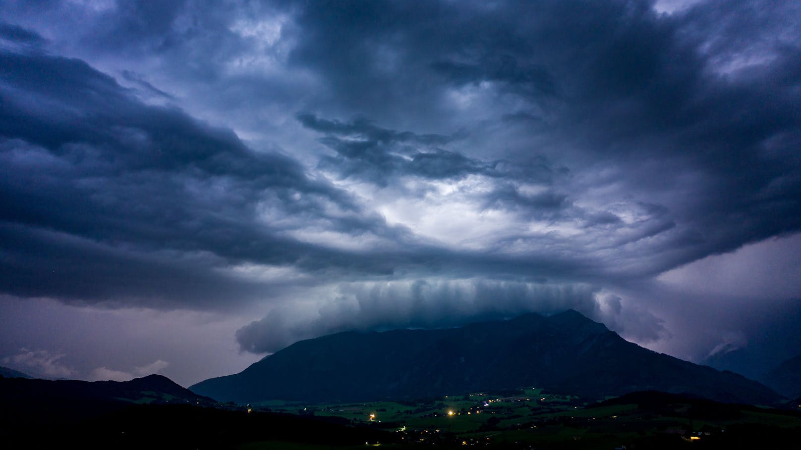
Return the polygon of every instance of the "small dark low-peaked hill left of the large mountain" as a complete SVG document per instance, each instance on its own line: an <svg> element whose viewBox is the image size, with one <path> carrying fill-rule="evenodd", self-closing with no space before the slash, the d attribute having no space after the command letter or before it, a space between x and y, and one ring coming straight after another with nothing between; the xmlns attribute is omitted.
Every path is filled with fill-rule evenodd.
<svg viewBox="0 0 801 450"><path fill-rule="evenodd" d="M5 411L14 411L6 419L7 426L69 423L119 411L132 404L212 406L216 402L160 375L94 382L0 378L0 405Z"/></svg>

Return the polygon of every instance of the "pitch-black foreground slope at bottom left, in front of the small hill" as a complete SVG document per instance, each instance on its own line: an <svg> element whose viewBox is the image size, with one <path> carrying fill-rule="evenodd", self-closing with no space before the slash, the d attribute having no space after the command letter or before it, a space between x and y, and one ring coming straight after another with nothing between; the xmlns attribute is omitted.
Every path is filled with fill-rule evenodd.
<svg viewBox="0 0 801 450"><path fill-rule="evenodd" d="M18 415L10 409L2 411ZM0 424L3 448L219 450L264 441L272 442L264 448L308 448L304 444L353 448L365 442L383 444L399 439L376 428L348 426L347 420L340 418L229 411L190 404L127 404L64 423Z"/></svg>

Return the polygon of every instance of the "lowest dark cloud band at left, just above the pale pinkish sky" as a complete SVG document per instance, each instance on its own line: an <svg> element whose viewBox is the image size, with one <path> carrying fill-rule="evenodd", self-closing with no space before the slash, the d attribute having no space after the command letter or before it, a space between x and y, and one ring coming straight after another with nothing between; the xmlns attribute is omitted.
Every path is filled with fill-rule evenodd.
<svg viewBox="0 0 801 450"><path fill-rule="evenodd" d="M248 287L209 270L219 261L208 255L176 261L6 222L0 236L5 273L0 290L12 295L148 307L191 301L215 308L222 306L215 302L231 295L253 297L260 292L255 283Z"/></svg>

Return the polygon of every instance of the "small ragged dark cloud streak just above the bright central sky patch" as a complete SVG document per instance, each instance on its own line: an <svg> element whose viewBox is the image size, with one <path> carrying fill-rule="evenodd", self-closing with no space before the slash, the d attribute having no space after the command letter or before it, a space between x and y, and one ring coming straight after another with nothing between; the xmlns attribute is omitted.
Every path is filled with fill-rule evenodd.
<svg viewBox="0 0 801 450"><path fill-rule="evenodd" d="M483 175L494 184L489 193L480 195L484 208L543 216L558 214L570 206L565 193L553 190L553 179L564 175L559 172L566 170L554 168L544 159L517 167L509 161L481 161L437 147L458 141L457 138L388 130L366 119L343 123L309 113L299 114L297 119L304 127L326 134L319 139L320 143L337 155L323 156L319 167L334 171L340 178L362 179L388 187L405 177L453 180ZM532 195L521 193L516 186L521 182L536 183L542 190Z"/></svg>

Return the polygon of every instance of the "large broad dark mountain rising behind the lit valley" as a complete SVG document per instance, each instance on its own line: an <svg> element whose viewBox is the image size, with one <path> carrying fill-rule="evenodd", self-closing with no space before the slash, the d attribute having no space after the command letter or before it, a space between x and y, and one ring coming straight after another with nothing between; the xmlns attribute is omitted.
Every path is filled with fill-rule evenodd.
<svg viewBox="0 0 801 450"><path fill-rule="evenodd" d="M573 310L442 330L326 335L190 389L254 403L399 400L522 386L593 399L648 390L733 403L779 398L743 376L639 347Z"/></svg>

